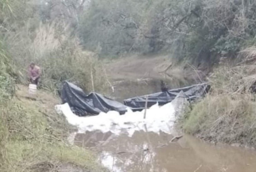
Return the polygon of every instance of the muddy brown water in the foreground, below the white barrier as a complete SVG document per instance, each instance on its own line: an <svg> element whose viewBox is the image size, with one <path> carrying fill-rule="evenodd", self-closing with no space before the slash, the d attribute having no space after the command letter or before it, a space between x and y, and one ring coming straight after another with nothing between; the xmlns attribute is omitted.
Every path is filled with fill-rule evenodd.
<svg viewBox="0 0 256 172"><path fill-rule="evenodd" d="M256 151L215 146L191 136L170 142L172 135L137 131L77 134L77 146L98 152L99 162L113 172L255 172Z"/></svg>

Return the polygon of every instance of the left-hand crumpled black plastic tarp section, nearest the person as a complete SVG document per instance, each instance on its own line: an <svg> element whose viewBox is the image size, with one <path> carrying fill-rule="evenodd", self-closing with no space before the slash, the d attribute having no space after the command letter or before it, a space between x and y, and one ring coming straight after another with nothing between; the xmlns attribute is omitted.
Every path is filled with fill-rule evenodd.
<svg viewBox="0 0 256 172"><path fill-rule="evenodd" d="M79 116L98 115L110 110L118 111L121 115L126 112L126 106L118 101L98 93L87 95L81 88L67 81L63 84L61 98L62 103L68 103L71 110Z"/></svg>

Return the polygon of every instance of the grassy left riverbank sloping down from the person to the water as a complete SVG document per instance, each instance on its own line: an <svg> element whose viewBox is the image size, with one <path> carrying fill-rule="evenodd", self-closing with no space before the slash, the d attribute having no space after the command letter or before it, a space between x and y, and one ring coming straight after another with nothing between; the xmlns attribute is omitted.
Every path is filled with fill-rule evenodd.
<svg viewBox="0 0 256 172"><path fill-rule="evenodd" d="M92 152L68 144L75 128L55 112L58 103L43 90L31 100L26 86L16 86L15 97L1 104L0 171L105 171Z"/></svg>

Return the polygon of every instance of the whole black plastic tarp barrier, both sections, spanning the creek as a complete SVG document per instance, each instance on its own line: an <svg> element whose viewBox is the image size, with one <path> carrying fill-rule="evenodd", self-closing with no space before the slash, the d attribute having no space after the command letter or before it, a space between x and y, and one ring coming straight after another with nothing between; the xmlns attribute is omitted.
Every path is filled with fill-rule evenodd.
<svg viewBox="0 0 256 172"><path fill-rule="evenodd" d="M157 103L159 105L170 103L181 92L183 93L183 97L189 101L193 101L196 98L202 98L209 89L210 85L203 83L184 88L172 89L166 92L150 94L147 95L147 107L149 108ZM61 91L62 103L68 103L73 113L78 116L98 115L100 112L107 113L110 110L118 111L120 115L123 115L127 111L127 106L131 108L132 111L140 111L145 108L147 96L124 100L125 105L123 105L118 101L104 97L98 93L90 93L87 95L81 88L67 81L64 82Z"/></svg>

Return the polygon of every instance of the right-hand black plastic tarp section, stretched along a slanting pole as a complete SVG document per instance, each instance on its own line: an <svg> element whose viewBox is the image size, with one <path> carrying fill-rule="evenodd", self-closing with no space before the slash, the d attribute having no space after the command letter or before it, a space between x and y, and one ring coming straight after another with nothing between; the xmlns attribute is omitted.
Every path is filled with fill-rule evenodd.
<svg viewBox="0 0 256 172"><path fill-rule="evenodd" d="M189 101L193 101L195 98L203 97L209 91L209 89L210 85L207 83L197 84L189 87L168 90L166 92L159 92L126 99L124 100L124 104L131 107L133 111L142 110L145 108L146 97L148 97L147 107L151 107L156 103L159 105L164 105L171 102L181 91L183 91L185 97Z"/></svg>

